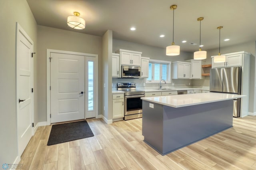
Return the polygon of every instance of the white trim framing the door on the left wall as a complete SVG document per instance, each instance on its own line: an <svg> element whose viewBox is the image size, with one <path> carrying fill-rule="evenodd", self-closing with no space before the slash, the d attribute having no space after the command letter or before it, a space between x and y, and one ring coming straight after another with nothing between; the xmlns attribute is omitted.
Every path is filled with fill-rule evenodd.
<svg viewBox="0 0 256 170"><path fill-rule="evenodd" d="M19 137L18 137L18 114L19 114L19 104L18 104L18 58L17 58L17 45L18 45L18 34L19 32L28 40L29 43L32 44L32 49L31 51L34 51L34 42L33 40L28 36L28 34L25 32L25 30L20 26L20 24L18 22L16 22L16 40L15 40L15 85L16 85L16 136L17 136L17 153L18 153L18 160L20 160L20 156L22 153L19 153ZM31 54L32 55L32 54ZM31 59L31 87L34 87L34 60ZM31 94L31 126L32 123L34 123L34 93ZM32 127L32 136L35 134L36 128ZM24 152L24 150L22 151Z"/></svg>

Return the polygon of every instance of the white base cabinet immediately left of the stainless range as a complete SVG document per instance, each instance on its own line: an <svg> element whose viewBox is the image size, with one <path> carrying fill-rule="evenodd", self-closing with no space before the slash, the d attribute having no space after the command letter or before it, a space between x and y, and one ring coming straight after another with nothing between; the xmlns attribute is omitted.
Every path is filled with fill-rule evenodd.
<svg viewBox="0 0 256 170"><path fill-rule="evenodd" d="M112 119L124 117L124 94L112 94Z"/></svg>

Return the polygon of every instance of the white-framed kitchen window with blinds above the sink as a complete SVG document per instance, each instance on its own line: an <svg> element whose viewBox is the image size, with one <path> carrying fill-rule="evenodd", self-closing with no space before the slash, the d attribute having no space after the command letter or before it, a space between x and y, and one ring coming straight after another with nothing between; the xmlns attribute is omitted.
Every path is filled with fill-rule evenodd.
<svg viewBox="0 0 256 170"><path fill-rule="evenodd" d="M150 60L146 83L159 83L161 79L170 83L170 63L170 61Z"/></svg>

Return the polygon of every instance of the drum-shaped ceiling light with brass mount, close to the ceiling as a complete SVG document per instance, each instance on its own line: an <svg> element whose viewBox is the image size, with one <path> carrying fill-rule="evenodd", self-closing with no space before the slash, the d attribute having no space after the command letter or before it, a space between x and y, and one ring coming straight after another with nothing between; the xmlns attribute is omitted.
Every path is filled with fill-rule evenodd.
<svg viewBox="0 0 256 170"><path fill-rule="evenodd" d="M74 12L74 15L68 16L67 24L71 28L82 30L85 28L85 20L80 16L79 12Z"/></svg>

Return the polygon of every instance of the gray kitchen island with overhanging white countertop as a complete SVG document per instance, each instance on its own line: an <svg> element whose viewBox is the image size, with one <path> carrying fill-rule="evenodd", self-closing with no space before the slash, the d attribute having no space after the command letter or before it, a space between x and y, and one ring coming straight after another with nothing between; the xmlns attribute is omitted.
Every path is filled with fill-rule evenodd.
<svg viewBox="0 0 256 170"><path fill-rule="evenodd" d="M165 155L232 127L233 99L244 95L197 93L142 97L144 141Z"/></svg>

